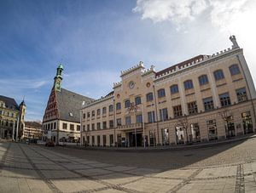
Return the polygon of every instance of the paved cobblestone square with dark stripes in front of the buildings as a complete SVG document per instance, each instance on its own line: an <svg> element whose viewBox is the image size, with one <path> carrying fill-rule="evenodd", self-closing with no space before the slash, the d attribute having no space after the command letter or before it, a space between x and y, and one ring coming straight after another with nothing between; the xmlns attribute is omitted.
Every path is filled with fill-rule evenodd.
<svg viewBox="0 0 256 193"><path fill-rule="evenodd" d="M255 145L118 152L0 143L0 192L256 192Z"/></svg>

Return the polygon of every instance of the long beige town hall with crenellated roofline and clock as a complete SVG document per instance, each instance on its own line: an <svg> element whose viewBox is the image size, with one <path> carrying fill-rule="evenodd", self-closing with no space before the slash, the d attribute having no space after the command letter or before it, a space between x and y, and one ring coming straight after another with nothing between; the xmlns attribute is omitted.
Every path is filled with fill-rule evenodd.
<svg viewBox="0 0 256 193"><path fill-rule="evenodd" d="M143 62L121 71L113 92L82 109L82 143L200 143L255 132L256 92L236 37L232 48L163 71Z"/></svg>

